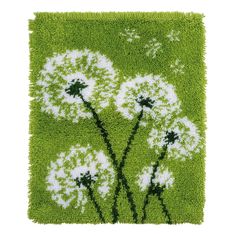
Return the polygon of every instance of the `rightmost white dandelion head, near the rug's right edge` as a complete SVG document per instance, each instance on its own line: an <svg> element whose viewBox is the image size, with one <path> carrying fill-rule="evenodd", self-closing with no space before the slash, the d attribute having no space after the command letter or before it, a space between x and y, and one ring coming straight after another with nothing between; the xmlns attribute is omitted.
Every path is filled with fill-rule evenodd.
<svg viewBox="0 0 236 236"><path fill-rule="evenodd" d="M199 131L187 117L177 118L166 127L152 128L147 142L157 154L166 147L168 158L180 160L191 159L201 148Z"/></svg>

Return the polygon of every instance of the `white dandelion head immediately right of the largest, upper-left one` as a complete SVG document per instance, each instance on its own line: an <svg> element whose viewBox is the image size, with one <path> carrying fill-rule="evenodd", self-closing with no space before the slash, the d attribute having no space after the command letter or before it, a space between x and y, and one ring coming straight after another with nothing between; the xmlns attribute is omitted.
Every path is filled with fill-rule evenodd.
<svg viewBox="0 0 236 236"><path fill-rule="evenodd" d="M117 111L129 120L143 110L140 125L146 125L145 121L150 118L155 121L168 120L180 112L174 87L154 75L128 78L121 84L115 104Z"/></svg>

